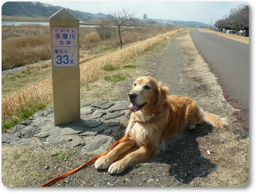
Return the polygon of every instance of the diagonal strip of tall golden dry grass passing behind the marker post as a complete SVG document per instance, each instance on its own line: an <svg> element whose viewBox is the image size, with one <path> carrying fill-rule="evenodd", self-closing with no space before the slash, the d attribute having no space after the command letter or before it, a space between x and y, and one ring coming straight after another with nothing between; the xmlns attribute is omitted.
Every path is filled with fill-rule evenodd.
<svg viewBox="0 0 256 194"><path fill-rule="evenodd" d="M158 35L143 41L136 42L131 46L127 46L122 50L103 55L96 59L80 64L80 81L88 83L95 80L102 74L102 67L106 63L121 64L124 60L138 55L154 45L158 44L165 38L173 36L182 29L170 31L168 33ZM51 78L40 81L39 83L31 84L22 90L10 92L2 96L2 120L9 120L16 116L16 113L25 109L31 104L46 103L52 101L52 80Z"/></svg>

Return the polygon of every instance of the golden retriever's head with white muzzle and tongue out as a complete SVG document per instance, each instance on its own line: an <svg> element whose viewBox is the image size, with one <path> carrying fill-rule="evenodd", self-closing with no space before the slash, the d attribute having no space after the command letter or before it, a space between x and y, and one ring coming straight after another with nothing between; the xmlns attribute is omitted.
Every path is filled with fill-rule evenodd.
<svg viewBox="0 0 256 194"><path fill-rule="evenodd" d="M132 91L128 94L131 105L129 110L161 110L166 101L168 87L163 87L161 82L151 76L144 76L136 79Z"/></svg>

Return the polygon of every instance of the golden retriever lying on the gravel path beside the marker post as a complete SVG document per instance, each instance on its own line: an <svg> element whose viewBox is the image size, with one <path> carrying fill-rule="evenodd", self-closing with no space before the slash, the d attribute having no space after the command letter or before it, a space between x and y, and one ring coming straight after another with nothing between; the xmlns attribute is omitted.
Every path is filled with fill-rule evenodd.
<svg viewBox="0 0 256 194"><path fill-rule="evenodd" d="M130 136L99 158L95 168L109 167L110 174L119 174L133 164L152 158L165 141L181 134L186 127L194 129L196 124L204 121L218 128L227 124L217 115L204 112L197 101L186 96L169 96L168 92L166 86L150 76L134 81L129 93L132 114L126 129ZM116 161L136 146L139 147L137 150Z"/></svg>

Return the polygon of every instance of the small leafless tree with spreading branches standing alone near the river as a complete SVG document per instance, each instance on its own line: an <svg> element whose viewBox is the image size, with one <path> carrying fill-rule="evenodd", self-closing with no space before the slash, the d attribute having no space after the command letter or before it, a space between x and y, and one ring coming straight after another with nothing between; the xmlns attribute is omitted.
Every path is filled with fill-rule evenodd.
<svg viewBox="0 0 256 194"><path fill-rule="evenodd" d="M122 49L122 32L130 31L142 35L143 29L139 26L139 22L135 19L135 12L130 13L129 10L123 9L122 12L116 11L108 15L110 22L110 30L119 36L120 49Z"/></svg>

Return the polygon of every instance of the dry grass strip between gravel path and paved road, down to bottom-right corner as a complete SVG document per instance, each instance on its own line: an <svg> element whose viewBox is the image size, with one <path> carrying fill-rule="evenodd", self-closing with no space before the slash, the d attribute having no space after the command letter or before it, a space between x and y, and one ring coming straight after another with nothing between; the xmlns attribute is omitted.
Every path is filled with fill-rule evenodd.
<svg viewBox="0 0 256 194"><path fill-rule="evenodd" d="M207 136L197 138L203 157L217 164L214 173L203 182L201 180L202 186L245 186L249 181L249 138L239 138L241 134L235 133L238 129L243 132L232 116L238 110L225 101L216 76L210 72L208 64L196 49L189 31L180 39L180 46L188 56L185 62L186 76L196 82L195 88L206 90L205 95L197 98L199 105L205 111L222 113L221 116L229 120L227 130L215 128ZM210 157L205 152L206 148L214 150L215 156ZM194 182L197 181L199 180L196 178Z"/></svg>

